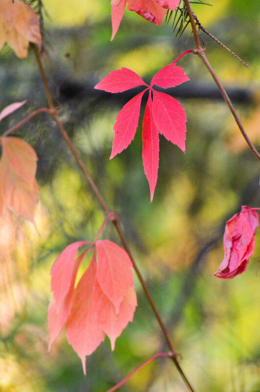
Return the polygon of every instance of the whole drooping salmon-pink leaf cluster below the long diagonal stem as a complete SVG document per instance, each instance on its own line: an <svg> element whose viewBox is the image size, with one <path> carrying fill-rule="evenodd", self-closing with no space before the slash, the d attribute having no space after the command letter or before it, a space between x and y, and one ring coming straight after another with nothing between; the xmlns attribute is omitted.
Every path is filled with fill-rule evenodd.
<svg viewBox="0 0 260 392"><path fill-rule="evenodd" d="M87 243L90 247L77 256ZM92 260L75 288L79 265L90 248L94 248ZM80 357L86 374L86 356L95 351L105 334L114 349L116 339L133 320L137 299L132 262L111 241L74 242L53 264L51 290L49 348L65 325L68 342Z"/></svg>

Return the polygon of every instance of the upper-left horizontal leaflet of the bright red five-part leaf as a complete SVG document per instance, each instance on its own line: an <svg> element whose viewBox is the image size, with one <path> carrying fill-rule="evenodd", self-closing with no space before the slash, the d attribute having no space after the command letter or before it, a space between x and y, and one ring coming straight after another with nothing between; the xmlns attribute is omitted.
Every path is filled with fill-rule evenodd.
<svg viewBox="0 0 260 392"><path fill-rule="evenodd" d="M128 68L121 68L110 72L101 82L95 85L94 89L107 92L123 92L141 85L147 86L136 72Z"/></svg>

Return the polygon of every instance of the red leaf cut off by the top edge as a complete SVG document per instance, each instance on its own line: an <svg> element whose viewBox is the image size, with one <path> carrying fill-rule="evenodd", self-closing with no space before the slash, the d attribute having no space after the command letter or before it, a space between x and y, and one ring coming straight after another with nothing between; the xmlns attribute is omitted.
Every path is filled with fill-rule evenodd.
<svg viewBox="0 0 260 392"><path fill-rule="evenodd" d="M147 21L160 25L167 13L166 9L175 10L180 4L180 0L112 0L111 19L113 32L110 41L114 39L118 31L126 4L129 11L134 11Z"/></svg>

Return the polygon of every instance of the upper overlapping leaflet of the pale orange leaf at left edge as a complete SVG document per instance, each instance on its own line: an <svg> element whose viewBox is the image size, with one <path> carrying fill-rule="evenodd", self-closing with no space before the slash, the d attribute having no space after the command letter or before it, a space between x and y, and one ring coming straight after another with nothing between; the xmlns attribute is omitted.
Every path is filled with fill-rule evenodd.
<svg viewBox="0 0 260 392"><path fill-rule="evenodd" d="M24 140L14 137L2 138L2 164L12 170L30 187L35 181L38 157ZM5 167L3 170L6 170Z"/></svg>

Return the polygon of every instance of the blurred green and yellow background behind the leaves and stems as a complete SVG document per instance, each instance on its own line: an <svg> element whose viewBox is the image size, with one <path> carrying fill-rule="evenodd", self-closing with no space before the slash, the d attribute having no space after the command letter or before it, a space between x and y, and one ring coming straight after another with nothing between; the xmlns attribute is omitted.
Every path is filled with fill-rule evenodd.
<svg viewBox="0 0 260 392"><path fill-rule="evenodd" d="M150 204L142 166L142 121L128 149L109 161L116 116L131 96L93 91L102 77L121 67L149 81L194 47L190 26L177 40L172 21L159 27L126 11L109 42L109 0L43 4L48 15L44 64L60 118L104 199L121 218L191 384L197 392L259 392L260 230L244 274L230 280L212 276L223 258L225 221L241 204L260 207L259 162L207 69L188 54L178 65L191 81L174 95L188 117L186 153L160 137L159 178ZM259 4L211 4L194 4L194 12L249 67L201 34L208 43L206 53L260 148ZM1 122L1 133L46 105L33 51L20 60L4 46L0 85L0 108L28 100ZM40 204L37 230L30 224L21 227L9 258L1 259L0 392L106 391L150 356L167 350L165 340L135 277L139 306L134 321L113 353L106 338L87 359L86 377L64 332L47 352L51 265L71 242L93 240L104 215L50 119L34 118L16 136L33 145L39 156ZM112 225L103 238L118 242ZM120 391L180 392L185 386L172 363L159 359Z"/></svg>

